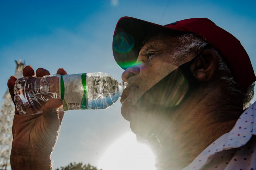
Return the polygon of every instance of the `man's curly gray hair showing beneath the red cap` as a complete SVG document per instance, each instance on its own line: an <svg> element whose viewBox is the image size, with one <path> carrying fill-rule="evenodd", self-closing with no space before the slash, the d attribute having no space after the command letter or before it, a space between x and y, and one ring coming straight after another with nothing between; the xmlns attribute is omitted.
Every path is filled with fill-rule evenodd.
<svg viewBox="0 0 256 170"><path fill-rule="evenodd" d="M171 60L177 66L185 63L191 52L199 53L208 44L204 39L195 34L182 34L177 39L181 42L180 47L175 50L175 53L171 57ZM244 109L250 106L250 101L254 96L254 83L245 91L241 90L222 56L219 57L218 70L221 74L220 79L228 94L232 97L240 98L243 101Z"/></svg>

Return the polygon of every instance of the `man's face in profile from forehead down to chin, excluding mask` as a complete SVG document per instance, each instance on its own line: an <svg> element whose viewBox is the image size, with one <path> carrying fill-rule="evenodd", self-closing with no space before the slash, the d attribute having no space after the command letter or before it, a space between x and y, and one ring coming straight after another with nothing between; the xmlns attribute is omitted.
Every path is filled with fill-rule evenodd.
<svg viewBox="0 0 256 170"><path fill-rule="evenodd" d="M130 67L122 74L123 81L129 83L124 90L121 102L121 113L130 121L132 131L142 138L154 133L154 125L163 119L159 108L150 100L143 106L138 99L179 65L174 65L173 54L179 47L175 37L155 36L142 47L137 58L137 65ZM159 97L166 94L161 94Z"/></svg>

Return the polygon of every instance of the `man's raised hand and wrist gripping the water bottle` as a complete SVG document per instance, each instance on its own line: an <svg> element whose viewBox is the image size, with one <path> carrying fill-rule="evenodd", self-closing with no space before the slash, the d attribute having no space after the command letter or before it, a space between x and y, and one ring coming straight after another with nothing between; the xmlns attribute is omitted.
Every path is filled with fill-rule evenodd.
<svg viewBox="0 0 256 170"><path fill-rule="evenodd" d="M67 74L60 68L57 74ZM39 68L37 77L50 75ZM34 70L27 66L23 70L24 77L34 76ZM8 80L8 88L14 101L13 87L17 79L12 76ZM58 138L61 121L64 112L58 109L62 107L60 99L49 100L43 109L43 113L32 116L19 115L15 106L13 120L13 142L11 151L12 169L51 169L51 153Z"/></svg>

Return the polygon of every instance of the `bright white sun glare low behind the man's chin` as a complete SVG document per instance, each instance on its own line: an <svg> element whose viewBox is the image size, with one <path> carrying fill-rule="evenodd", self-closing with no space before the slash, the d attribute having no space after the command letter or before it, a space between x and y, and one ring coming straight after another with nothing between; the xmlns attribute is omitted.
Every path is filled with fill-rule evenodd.
<svg viewBox="0 0 256 170"><path fill-rule="evenodd" d="M127 133L117 139L104 153L98 168L103 170L155 170L150 148L136 141L136 135Z"/></svg>

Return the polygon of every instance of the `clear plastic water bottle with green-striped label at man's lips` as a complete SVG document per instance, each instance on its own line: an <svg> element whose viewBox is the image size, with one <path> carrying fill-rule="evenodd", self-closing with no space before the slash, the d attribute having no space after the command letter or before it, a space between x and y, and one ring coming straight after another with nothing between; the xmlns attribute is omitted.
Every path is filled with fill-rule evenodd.
<svg viewBox="0 0 256 170"><path fill-rule="evenodd" d="M43 112L51 99L63 101L63 110L105 109L114 104L127 82L118 83L107 73L83 73L23 77L14 86L14 100L21 115Z"/></svg>

